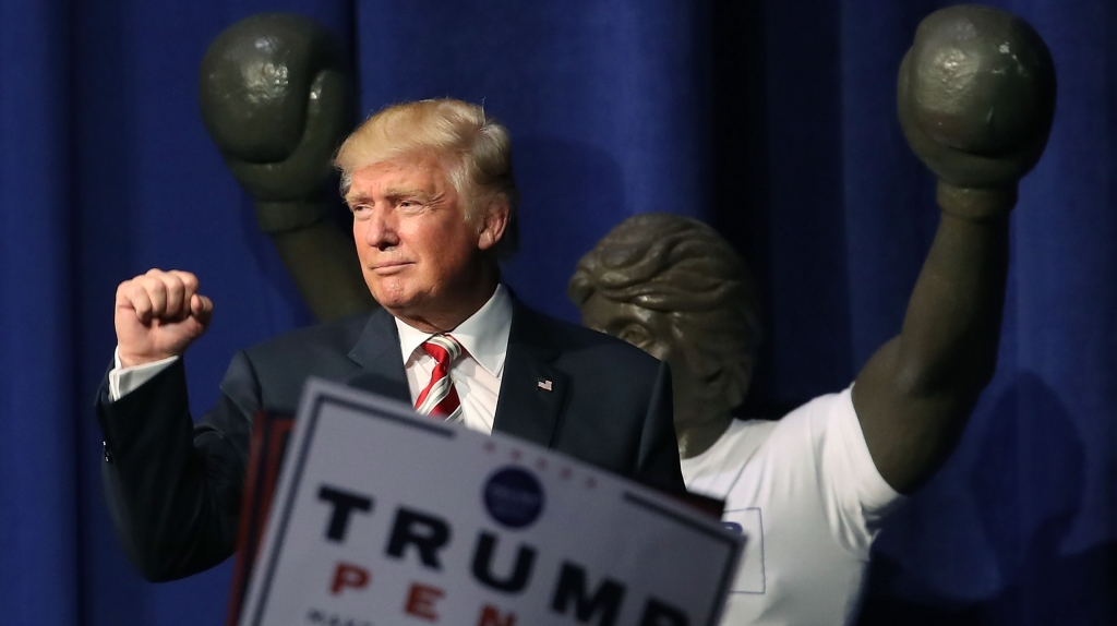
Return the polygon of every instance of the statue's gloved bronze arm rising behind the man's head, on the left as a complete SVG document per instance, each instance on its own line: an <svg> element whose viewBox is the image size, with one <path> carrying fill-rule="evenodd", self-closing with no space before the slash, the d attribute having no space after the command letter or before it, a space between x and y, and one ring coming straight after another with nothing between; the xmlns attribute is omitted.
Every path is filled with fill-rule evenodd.
<svg viewBox="0 0 1117 626"><path fill-rule="evenodd" d="M315 317L374 308L353 242L328 219L337 198L331 160L352 129L349 78L331 35L289 13L246 18L207 50L199 99L206 128Z"/></svg>

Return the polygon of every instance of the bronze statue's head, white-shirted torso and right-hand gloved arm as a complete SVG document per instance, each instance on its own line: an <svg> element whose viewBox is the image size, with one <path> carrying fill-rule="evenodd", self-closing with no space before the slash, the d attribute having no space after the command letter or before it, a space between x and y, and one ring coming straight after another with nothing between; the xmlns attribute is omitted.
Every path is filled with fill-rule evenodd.
<svg viewBox="0 0 1117 626"><path fill-rule="evenodd" d="M1054 87L1042 40L1010 13L954 7L920 23L898 109L938 177L938 231L900 334L851 389L780 423L732 415L758 324L744 264L712 229L638 215L580 261L569 293L583 322L670 364L687 487L725 500L723 519L750 536L724 624L856 618L881 521L954 449L993 375L1009 213L1047 143Z"/></svg>

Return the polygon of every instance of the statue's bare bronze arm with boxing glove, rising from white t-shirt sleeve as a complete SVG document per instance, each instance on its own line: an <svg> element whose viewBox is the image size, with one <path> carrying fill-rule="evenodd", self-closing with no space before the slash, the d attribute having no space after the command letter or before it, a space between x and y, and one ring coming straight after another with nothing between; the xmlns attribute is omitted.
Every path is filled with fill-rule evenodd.
<svg viewBox="0 0 1117 626"><path fill-rule="evenodd" d="M953 451L993 376L1016 183L1039 161L1054 116L1054 66L1015 16L958 6L927 17L900 65L898 109L938 176L938 231L900 334L853 388L865 439L898 491Z"/></svg>

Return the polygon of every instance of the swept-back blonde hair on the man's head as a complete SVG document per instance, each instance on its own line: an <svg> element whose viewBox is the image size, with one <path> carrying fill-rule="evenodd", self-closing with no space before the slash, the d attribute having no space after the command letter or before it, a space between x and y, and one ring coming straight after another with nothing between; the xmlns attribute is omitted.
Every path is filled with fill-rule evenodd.
<svg viewBox="0 0 1117 626"><path fill-rule="evenodd" d="M479 203L504 196L508 224L495 252L500 259L515 253L519 191L512 174L512 137L478 105L439 98L391 105L372 115L337 150L334 165L342 173L342 194L349 192L355 171L423 152L456 162L447 175L466 200L467 219Z"/></svg>

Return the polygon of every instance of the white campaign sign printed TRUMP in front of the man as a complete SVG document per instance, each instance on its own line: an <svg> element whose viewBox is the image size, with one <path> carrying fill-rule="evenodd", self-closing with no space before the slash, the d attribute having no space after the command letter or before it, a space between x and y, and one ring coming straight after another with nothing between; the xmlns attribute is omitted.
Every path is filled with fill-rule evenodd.
<svg viewBox="0 0 1117 626"><path fill-rule="evenodd" d="M312 381L240 624L713 626L743 542L562 454Z"/></svg>

